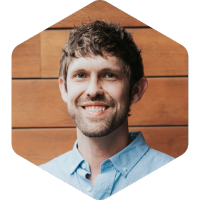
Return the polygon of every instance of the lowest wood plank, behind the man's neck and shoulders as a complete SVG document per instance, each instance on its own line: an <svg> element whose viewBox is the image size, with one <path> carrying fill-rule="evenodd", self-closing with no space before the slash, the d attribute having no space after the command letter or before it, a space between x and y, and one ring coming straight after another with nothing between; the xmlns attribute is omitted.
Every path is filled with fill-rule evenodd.
<svg viewBox="0 0 200 200"><path fill-rule="evenodd" d="M150 148L174 158L188 148L188 127L135 127ZM70 151L77 139L75 128L12 129L12 148L20 157L40 165Z"/></svg>

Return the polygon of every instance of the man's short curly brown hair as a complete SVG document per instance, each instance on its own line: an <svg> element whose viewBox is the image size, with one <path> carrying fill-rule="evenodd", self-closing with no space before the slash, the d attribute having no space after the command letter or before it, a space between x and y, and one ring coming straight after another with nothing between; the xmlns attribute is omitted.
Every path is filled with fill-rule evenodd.
<svg viewBox="0 0 200 200"><path fill-rule="evenodd" d="M130 81L129 100L132 90L143 76L141 50L136 46L132 34L120 24L96 20L74 27L67 43L62 48L59 77L63 78L67 92L67 71L75 58L106 55L116 56L122 61L122 70ZM130 108L129 108L130 111ZM128 114L128 116L131 116Z"/></svg>

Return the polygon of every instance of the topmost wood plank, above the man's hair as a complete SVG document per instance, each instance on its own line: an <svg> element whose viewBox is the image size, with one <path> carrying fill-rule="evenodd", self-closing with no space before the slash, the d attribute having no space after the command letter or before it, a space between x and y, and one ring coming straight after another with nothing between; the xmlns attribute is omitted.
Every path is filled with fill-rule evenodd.
<svg viewBox="0 0 200 200"><path fill-rule="evenodd" d="M83 23L89 23L95 20L109 20L113 22L118 22L122 26L143 26L148 27L142 21L132 17L128 13L122 11L120 8L106 2L106 1L93 1L92 3L86 5L80 10L72 13L71 15L65 17L64 19L53 24L49 28L73 28L75 26L80 26L81 21Z"/></svg>

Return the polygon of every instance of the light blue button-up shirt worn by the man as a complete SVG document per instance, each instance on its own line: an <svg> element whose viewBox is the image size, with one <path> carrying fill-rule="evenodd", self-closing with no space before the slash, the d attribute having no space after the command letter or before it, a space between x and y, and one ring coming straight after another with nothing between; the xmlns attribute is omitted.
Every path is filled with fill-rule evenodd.
<svg viewBox="0 0 200 200"><path fill-rule="evenodd" d="M149 148L141 131L129 134L133 141L101 163L95 187L86 178L90 167L77 149L78 140L71 151L39 167L93 199L106 199L175 159Z"/></svg>

